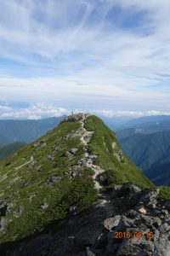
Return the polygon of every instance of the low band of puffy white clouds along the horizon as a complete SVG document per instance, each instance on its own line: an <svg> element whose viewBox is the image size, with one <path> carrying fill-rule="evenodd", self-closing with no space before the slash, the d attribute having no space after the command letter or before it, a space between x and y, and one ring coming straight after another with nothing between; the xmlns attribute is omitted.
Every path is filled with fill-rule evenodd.
<svg viewBox="0 0 170 256"><path fill-rule="evenodd" d="M71 112L73 113L80 113L85 112L83 109L65 109L59 108L54 105L48 105L46 103L37 103L31 104L27 108L11 108L8 106L0 106L0 119L44 119L49 117L59 117L63 115L70 115ZM163 111L156 111L156 110L149 110L145 112L140 111L113 111L113 110L93 110L88 111L88 113L93 113L96 115L105 116L108 118L113 117L141 117L141 116L150 116L150 115L170 115L170 111L163 112Z"/></svg>

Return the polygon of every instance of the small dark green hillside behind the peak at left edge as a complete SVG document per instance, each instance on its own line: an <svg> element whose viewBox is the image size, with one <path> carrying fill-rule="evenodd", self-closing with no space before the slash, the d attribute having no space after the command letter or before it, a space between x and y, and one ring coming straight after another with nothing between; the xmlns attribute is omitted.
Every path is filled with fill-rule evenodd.
<svg viewBox="0 0 170 256"><path fill-rule="evenodd" d="M25 148L26 145L27 145L26 143L19 142L19 143L11 143L11 144L8 144L7 146L0 148L0 160L7 158L10 154L14 154L21 148Z"/></svg>

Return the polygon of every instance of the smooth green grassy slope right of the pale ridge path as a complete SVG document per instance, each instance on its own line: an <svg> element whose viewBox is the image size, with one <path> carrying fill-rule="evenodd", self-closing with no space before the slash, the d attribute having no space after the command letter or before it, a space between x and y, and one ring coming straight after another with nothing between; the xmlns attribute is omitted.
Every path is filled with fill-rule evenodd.
<svg viewBox="0 0 170 256"><path fill-rule="evenodd" d="M101 119L96 116L88 117L86 129L94 131L89 147L93 154L99 156L96 163L107 171L105 176L110 177L111 183L135 183L144 187L152 186L149 179L127 159L125 154L122 154L116 135L105 126ZM116 149L111 146L113 142L116 142ZM117 160L117 155L120 155L121 160Z"/></svg>

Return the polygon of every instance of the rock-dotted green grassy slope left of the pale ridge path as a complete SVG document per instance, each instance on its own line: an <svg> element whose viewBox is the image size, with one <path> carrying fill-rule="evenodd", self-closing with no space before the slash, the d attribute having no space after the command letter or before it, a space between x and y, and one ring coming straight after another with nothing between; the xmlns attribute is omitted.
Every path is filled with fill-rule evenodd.
<svg viewBox="0 0 170 256"><path fill-rule="evenodd" d="M51 221L65 218L69 207L76 206L77 212L80 212L96 201L92 170L84 169L80 173L75 167L77 176L74 179L65 175L83 156L79 137L64 140L65 135L79 127L79 123L60 124L39 139L37 146L31 143L20 154L1 161L0 201L14 206L5 217L7 230L1 233L1 242L29 236ZM59 147L59 150L55 152L53 147ZM71 148L78 148L77 154L71 158L65 157L63 154ZM53 161L48 160L48 154L54 157ZM26 164L31 157L35 165ZM61 177L61 180L49 185L48 181L54 176ZM45 210L41 207L44 204L48 205Z"/></svg>

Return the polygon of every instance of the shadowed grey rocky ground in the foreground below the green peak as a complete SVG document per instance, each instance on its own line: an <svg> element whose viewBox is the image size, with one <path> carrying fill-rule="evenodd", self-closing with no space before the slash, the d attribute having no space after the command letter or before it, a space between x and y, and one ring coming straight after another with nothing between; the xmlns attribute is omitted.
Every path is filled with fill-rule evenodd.
<svg viewBox="0 0 170 256"><path fill-rule="evenodd" d="M60 222L57 233L22 242L8 255L31 256L36 251L52 256L168 256L169 203L157 201L158 194L159 189L116 185L105 202L81 215L77 207L70 207L72 217ZM150 204L155 204L154 210Z"/></svg>

